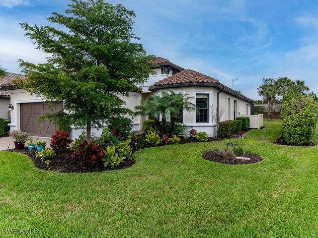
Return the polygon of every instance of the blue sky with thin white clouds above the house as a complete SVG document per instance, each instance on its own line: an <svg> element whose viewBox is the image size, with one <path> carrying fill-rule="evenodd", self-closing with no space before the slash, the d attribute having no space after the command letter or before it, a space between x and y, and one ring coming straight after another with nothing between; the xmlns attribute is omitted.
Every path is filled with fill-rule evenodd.
<svg viewBox="0 0 318 238"><path fill-rule="evenodd" d="M34 63L19 22L47 25L68 0L0 0L0 61L19 72L18 59ZM148 54L219 79L251 99L264 77L305 80L318 93L317 0L110 0L134 10L135 32Z"/></svg>

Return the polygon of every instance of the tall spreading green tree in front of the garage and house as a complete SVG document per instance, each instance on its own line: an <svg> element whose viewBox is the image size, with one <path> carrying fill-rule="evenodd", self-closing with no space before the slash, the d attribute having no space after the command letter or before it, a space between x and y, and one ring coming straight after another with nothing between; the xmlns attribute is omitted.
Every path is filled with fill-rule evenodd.
<svg viewBox="0 0 318 238"><path fill-rule="evenodd" d="M153 56L147 56L133 33L134 11L104 0L71 0L66 14L53 12L48 20L59 25L21 23L36 48L48 53L47 63L20 60L27 81L18 85L48 102L64 102L64 109L49 119L67 119L86 127L87 140L94 124L103 126L111 115L132 112L118 95L129 96L143 85Z"/></svg>

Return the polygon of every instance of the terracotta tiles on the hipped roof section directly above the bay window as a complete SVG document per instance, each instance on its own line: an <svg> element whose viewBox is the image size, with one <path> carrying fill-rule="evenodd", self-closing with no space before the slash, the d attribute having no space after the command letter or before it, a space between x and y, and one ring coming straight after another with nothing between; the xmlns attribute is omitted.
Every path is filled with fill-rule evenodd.
<svg viewBox="0 0 318 238"><path fill-rule="evenodd" d="M161 85L173 85L182 83L220 83L218 79L199 73L192 69L186 69L172 76L161 79L149 88Z"/></svg>

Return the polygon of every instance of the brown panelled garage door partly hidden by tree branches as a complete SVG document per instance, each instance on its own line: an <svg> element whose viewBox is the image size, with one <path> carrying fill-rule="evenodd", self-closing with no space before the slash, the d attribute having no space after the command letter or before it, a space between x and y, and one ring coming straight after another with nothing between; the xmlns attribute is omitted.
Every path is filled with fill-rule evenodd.
<svg viewBox="0 0 318 238"><path fill-rule="evenodd" d="M45 119L39 122L41 116L58 112L62 109L62 103L55 104L52 110L44 103L22 103L20 104L21 130L33 136L51 137L57 130L53 122Z"/></svg>

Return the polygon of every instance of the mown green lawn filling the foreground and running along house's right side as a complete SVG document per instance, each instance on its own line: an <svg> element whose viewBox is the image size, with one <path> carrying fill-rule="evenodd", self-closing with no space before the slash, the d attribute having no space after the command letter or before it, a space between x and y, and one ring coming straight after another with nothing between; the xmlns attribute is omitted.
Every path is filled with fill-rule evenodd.
<svg viewBox="0 0 318 238"><path fill-rule="evenodd" d="M244 140L144 149L122 171L59 174L0 152L0 237L3 227L58 238L317 237L318 150L271 144L280 120L264 124ZM264 160L201 159L229 141Z"/></svg>

